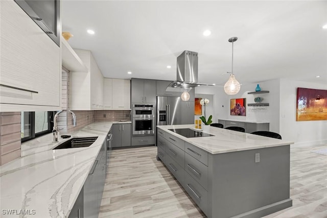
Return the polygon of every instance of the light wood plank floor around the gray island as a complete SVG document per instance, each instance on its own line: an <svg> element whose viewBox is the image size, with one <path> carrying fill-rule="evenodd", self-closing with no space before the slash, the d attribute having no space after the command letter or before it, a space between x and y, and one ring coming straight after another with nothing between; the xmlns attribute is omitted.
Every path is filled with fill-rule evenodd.
<svg viewBox="0 0 327 218"><path fill-rule="evenodd" d="M310 152L323 148L291 148L293 206L265 218L327 217L327 156ZM206 217L156 153L156 147L112 151L99 217Z"/></svg>

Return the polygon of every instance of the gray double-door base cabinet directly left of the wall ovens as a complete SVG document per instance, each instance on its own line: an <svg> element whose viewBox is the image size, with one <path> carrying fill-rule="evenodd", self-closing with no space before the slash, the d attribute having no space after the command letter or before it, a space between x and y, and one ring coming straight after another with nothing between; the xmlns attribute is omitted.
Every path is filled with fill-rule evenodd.
<svg viewBox="0 0 327 218"><path fill-rule="evenodd" d="M131 124L113 124L111 147L131 146Z"/></svg>

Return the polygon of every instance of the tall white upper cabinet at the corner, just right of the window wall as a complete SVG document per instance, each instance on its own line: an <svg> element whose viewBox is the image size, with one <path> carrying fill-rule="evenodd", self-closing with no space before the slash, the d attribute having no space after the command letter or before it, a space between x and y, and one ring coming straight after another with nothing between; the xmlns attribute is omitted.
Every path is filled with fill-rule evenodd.
<svg viewBox="0 0 327 218"><path fill-rule="evenodd" d="M69 72L69 109L102 110L104 78L92 53L87 50L74 50L87 68Z"/></svg>

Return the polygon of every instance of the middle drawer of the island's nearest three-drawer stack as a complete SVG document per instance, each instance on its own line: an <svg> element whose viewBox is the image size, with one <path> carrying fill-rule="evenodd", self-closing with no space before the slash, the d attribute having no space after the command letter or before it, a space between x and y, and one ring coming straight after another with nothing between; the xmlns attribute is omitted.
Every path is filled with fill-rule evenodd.
<svg viewBox="0 0 327 218"><path fill-rule="evenodd" d="M188 153L185 153L185 172L208 190L208 167Z"/></svg>

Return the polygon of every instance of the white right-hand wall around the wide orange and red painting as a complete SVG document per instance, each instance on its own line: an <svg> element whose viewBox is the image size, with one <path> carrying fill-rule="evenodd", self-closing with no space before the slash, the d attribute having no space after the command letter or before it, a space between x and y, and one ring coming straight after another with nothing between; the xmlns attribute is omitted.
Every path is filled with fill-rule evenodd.
<svg viewBox="0 0 327 218"><path fill-rule="evenodd" d="M326 84L281 79L280 132L297 144L327 143L327 120L296 121L297 87L326 89Z"/></svg>

